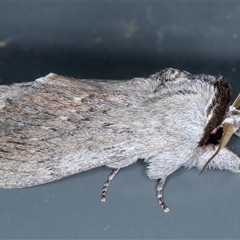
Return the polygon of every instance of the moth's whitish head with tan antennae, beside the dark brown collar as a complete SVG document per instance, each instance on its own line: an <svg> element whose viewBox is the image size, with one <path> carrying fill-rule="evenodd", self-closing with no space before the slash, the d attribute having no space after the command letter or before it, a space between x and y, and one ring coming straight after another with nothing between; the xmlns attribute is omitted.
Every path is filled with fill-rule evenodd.
<svg viewBox="0 0 240 240"><path fill-rule="evenodd" d="M226 118L223 120L222 125L219 128L214 128L213 131L211 132L212 135L220 134L221 139L219 142L218 149L212 155L212 157L205 163L200 174L207 168L209 163L219 153L219 151L227 145L233 133L235 133L237 136L240 136L240 110L237 110L237 108L239 107L240 107L240 93L238 94L233 104L229 107L229 111L226 115Z"/></svg>

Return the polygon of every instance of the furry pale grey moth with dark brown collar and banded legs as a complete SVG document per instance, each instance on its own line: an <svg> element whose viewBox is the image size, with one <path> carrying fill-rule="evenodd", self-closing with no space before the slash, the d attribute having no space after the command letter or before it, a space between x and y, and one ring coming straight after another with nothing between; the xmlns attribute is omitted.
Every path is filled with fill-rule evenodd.
<svg viewBox="0 0 240 240"><path fill-rule="evenodd" d="M240 95L230 105L222 76L168 68L147 78L75 80L49 74L33 82L0 86L0 187L24 188L86 170L113 171L144 159L159 180L180 167L240 171L225 148L240 136Z"/></svg>

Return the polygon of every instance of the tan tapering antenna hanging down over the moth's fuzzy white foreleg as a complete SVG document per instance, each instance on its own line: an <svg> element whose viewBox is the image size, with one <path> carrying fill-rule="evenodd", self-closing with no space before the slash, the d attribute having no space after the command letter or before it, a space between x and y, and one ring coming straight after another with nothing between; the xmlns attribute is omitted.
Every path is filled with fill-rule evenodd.
<svg viewBox="0 0 240 240"><path fill-rule="evenodd" d="M240 94L238 96L240 96ZM213 160L213 158L216 157L219 151L227 145L232 135L233 135L233 125L231 123L225 122L223 124L223 135L222 135L219 147L217 151L212 155L212 157L205 163L199 175L202 174L202 172L207 168L208 164Z"/></svg>

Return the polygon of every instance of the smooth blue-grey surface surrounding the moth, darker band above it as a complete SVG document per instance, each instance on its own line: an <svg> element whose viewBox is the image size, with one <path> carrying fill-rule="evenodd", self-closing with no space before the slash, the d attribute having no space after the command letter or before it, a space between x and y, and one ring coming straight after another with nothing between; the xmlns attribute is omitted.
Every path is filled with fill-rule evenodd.
<svg viewBox="0 0 240 240"><path fill-rule="evenodd" d="M0 2L0 79L49 72L132 78L165 67L222 74L240 91L240 3ZM240 154L240 139L230 148ZM122 170L108 201L99 168L29 189L0 189L0 238L239 238L240 175L180 169L168 179L168 214L144 164Z"/></svg>

